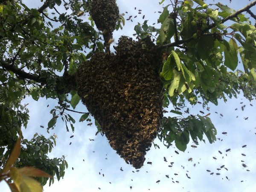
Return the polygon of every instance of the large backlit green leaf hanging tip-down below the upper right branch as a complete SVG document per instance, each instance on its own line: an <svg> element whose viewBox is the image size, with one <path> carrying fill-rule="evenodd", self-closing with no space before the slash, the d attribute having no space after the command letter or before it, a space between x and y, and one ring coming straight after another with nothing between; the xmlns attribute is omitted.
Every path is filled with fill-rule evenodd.
<svg viewBox="0 0 256 192"><path fill-rule="evenodd" d="M232 38L227 43L226 40L224 40L224 65L230 68L231 70L235 70L238 65L238 46L236 44L236 41Z"/></svg>

